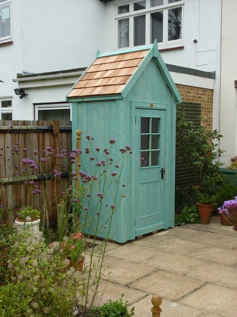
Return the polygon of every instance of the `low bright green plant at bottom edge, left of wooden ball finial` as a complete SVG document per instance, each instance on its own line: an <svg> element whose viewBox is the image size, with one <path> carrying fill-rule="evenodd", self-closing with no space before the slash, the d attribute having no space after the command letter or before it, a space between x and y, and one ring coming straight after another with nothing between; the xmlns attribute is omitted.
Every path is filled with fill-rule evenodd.
<svg viewBox="0 0 237 317"><path fill-rule="evenodd" d="M100 317L131 317L134 315L134 307L131 308L130 312L127 310L127 301L123 302L124 294L118 301L110 300L109 303L104 304L99 308Z"/></svg>

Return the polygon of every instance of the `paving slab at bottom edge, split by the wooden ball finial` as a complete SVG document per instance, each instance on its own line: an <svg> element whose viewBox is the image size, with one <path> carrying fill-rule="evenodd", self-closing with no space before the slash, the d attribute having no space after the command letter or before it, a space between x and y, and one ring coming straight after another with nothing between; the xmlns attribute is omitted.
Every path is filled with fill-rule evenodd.
<svg viewBox="0 0 237 317"><path fill-rule="evenodd" d="M148 295L141 301L131 305L135 308L134 317L152 317L151 309L153 305L151 303L153 295ZM160 317L202 317L203 311L193 307L189 307L184 304L170 302L163 299L160 305L162 312Z"/></svg>

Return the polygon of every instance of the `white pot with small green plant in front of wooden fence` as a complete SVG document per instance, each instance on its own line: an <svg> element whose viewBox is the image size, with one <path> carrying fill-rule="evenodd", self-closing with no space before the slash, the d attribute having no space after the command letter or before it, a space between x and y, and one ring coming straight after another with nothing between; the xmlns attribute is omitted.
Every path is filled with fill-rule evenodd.
<svg viewBox="0 0 237 317"><path fill-rule="evenodd" d="M22 231L24 228L28 228L35 234L39 233L40 224L40 211L32 209L31 207L23 207L20 209L18 216L15 220L16 229Z"/></svg>

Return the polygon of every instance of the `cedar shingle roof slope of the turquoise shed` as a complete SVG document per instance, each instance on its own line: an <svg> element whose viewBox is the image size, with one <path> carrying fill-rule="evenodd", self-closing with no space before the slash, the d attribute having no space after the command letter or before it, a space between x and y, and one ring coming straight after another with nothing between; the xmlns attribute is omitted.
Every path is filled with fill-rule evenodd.
<svg viewBox="0 0 237 317"><path fill-rule="evenodd" d="M98 57L67 97L118 95L135 73L148 49Z"/></svg>

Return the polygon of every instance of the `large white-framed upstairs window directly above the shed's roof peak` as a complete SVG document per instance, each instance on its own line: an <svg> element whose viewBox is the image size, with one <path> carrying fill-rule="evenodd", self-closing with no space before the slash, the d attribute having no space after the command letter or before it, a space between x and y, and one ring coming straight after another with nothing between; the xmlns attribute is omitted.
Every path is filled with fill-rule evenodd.
<svg viewBox="0 0 237 317"><path fill-rule="evenodd" d="M154 43L159 48L183 43L184 0L142 0L117 6L118 48Z"/></svg>

